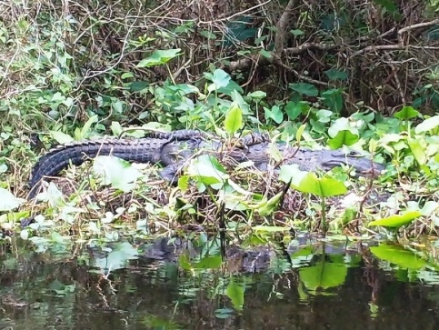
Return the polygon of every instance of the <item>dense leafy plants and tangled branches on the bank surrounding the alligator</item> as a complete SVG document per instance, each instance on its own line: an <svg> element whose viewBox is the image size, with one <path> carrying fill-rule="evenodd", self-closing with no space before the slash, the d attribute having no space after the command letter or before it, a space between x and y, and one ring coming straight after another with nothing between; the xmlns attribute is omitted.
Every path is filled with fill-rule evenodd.
<svg viewBox="0 0 439 330"><path fill-rule="evenodd" d="M11 211L2 215L4 224L29 215L29 207L15 212L23 203L16 197L25 196L42 147L120 135L125 127L134 127L126 135L138 137L143 131L135 128L143 126L199 128L225 138L264 130L296 145L348 146L389 165L379 184L354 182L334 170L331 186L343 184L360 195L356 205L340 209L326 204L341 191L323 193L327 176L308 177L320 190L294 185L304 192L303 203L294 193L284 200L282 185L268 181L261 188L255 184L260 177L249 173L234 173L236 183L218 189L217 181L206 182L188 168L198 185L181 182L175 193L148 184L152 173L145 168L140 173L97 160L94 168L110 165L110 172L125 175L107 178L116 192L108 197L93 175L82 181L75 176L77 192L102 193L87 203L72 191L65 200L49 185L46 203L36 206L44 216L34 229L50 227L52 220L77 229L83 220L97 219L88 231L110 239L116 234L108 225L120 220L136 221L135 230L149 233L152 223L169 229L175 220L217 219L218 205L230 211L231 228L246 219L250 227L254 220L270 224L266 230L274 230L274 220L315 229L322 217L324 229L329 221L335 232L358 230L359 219L399 228L419 218L414 233L438 225L437 1L144 3L0 5L0 178L7 198L1 210ZM215 166L216 179L228 180L228 169L204 162L193 166ZM390 195L381 205L364 210L371 192L384 189ZM129 201L120 192L131 194ZM171 197L161 199L164 192ZM196 205L200 195L218 207ZM290 211L285 218L277 213L283 203ZM232 204L240 205L241 215Z"/></svg>

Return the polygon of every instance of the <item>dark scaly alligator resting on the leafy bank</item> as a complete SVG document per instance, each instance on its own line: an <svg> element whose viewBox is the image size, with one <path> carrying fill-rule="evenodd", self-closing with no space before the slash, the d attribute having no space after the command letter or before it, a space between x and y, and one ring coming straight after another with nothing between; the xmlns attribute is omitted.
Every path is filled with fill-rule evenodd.
<svg viewBox="0 0 439 330"><path fill-rule="evenodd" d="M28 198L35 197L43 177L59 174L70 163L81 165L87 157L114 155L126 161L161 164L164 168L160 175L172 183L185 162L202 153L217 155L219 158L226 156L234 163L251 161L256 168L265 171L273 163L271 145L269 138L262 134L244 135L224 142L217 136L195 130L153 133L139 139L101 138L60 145L43 155L35 164ZM352 166L357 175L376 175L384 170L384 165L374 163L369 157L355 151L347 154L341 149L313 151L285 143L276 143L275 147L283 155L282 164L297 164L303 171L328 171L340 165Z"/></svg>

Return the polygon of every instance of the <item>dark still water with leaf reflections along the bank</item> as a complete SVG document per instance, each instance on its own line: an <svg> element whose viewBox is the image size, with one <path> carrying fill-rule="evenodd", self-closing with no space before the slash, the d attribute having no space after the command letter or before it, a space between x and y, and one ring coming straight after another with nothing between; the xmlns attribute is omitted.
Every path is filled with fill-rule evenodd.
<svg viewBox="0 0 439 330"><path fill-rule="evenodd" d="M236 274L231 260L188 269L127 243L5 244L0 329L437 328L436 265L384 246L295 246L264 272Z"/></svg>

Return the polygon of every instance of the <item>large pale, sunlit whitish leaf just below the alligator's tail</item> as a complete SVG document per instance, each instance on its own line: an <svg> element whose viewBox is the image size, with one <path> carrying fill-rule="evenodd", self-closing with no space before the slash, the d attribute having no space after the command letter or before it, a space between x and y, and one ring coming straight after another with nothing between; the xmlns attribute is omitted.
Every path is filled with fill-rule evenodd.
<svg viewBox="0 0 439 330"><path fill-rule="evenodd" d="M96 175L104 175L105 185L113 185L124 192L131 191L141 173L130 163L112 155L95 158L93 170Z"/></svg>

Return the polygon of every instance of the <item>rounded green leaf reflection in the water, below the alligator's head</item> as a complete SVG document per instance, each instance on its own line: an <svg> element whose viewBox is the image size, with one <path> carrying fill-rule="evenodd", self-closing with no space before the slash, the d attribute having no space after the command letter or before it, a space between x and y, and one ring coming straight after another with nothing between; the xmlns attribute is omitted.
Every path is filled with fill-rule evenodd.
<svg viewBox="0 0 439 330"><path fill-rule="evenodd" d="M317 265L300 268L300 280L308 290L327 289L343 285L347 275L347 266L321 261Z"/></svg>

